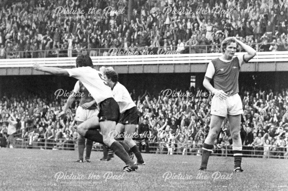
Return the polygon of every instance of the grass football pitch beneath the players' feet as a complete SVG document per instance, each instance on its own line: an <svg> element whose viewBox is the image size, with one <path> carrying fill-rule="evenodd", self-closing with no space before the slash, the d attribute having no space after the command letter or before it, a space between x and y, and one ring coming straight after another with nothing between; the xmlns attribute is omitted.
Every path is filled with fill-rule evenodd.
<svg viewBox="0 0 288 191"><path fill-rule="evenodd" d="M75 163L77 156L77 151L0 148L0 191L288 190L287 159L243 158L244 172L234 173L233 157L211 156L201 174L200 156L143 154L146 165L124 173L116 156L99 161L103 153L92 152L91 163Z"/></svg>

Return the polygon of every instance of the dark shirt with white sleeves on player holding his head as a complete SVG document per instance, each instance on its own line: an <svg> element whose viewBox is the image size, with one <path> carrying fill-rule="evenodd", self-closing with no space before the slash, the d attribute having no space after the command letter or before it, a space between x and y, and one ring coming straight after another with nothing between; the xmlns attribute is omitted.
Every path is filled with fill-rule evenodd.
<svg viewBox="0 0 288 191"><path fill-rule="evenodd" d="M230 96L239 92L238 77L244 55L233 57L232 60L223 60L221 57L211 60L208 64L205 78L214 81L214 88L223 90Z"/></svg>

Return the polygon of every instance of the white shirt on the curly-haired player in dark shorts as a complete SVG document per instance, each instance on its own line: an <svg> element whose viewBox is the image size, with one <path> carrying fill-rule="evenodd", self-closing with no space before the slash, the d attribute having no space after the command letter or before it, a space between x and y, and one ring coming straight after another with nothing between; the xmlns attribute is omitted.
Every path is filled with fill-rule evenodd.
<svg viewBox="0 0 288 191"><path fill-rule="evenodd" d="M126 110L136 106L128 90L119 82L116 82L112 93L115 101L119 104L120 113L124 113Z"/></svg>

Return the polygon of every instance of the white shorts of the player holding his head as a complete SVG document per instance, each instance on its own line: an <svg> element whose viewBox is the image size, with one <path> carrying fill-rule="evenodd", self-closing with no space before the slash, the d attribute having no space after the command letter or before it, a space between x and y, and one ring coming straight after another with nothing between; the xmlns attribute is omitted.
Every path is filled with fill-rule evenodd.
<svg viewBox="0 0 288 191"><path fill-rule="evenodd" d="M211 114L226 117L227 115L239 115L243 113L242 101L238 94L220 100L213 96L211 101Z"/></svg>

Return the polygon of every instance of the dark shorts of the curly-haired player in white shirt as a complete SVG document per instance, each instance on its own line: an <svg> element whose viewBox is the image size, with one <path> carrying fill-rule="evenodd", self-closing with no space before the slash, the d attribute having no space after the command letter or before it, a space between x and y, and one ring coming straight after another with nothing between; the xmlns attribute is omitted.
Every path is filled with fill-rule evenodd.
<svg viewBox="0 0 288 191"><path fill-rule="evenodd" d="M126 124L135 124L139 123L139 111L136 106L127 109L124 113L121 114L120 120L118 123L123 125Z"/></svg>

